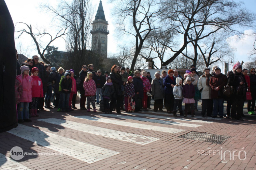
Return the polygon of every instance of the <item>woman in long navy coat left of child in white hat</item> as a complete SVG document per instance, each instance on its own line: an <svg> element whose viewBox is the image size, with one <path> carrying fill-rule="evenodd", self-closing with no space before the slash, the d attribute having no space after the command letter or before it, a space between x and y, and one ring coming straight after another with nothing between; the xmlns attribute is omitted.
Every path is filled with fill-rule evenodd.
<svg viewBox="0 0 256 170"><path fill-rule="evenodd" d="M176 80L173 77L174 71L172 69L168 70L168 76L163 79L163 84L165 85L165 104L167 113L171 114L174 107L174 95L173 87L176 85Z"/></svg>

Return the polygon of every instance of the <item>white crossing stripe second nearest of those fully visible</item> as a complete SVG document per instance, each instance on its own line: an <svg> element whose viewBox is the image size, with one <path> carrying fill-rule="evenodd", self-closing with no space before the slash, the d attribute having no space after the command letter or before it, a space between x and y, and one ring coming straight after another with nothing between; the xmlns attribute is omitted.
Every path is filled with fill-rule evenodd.
<svg viewBox="0 0 256 170"><path fill-rule="evenodd" d="M94 135L109 137L112 139L122 140L122 141L126 141L126 142L137 143L139 145L146 145L148 143L152 143L154 141L159 140L159 138L154 138L154 137L150 137L150 136L142 136L142 135L136 135L136 134L131 134L131 133L125 133L125 132L121 132L121 131L100 128L98 126L92 126L92 125L77 123L77 122L68 121L68 120L51 118L51 119L39 119L38 121L57 124L57 125L64 126L66 128L70 128L73 130L86 132L86 133L90 133L90 134L94 134Z"/></svg>

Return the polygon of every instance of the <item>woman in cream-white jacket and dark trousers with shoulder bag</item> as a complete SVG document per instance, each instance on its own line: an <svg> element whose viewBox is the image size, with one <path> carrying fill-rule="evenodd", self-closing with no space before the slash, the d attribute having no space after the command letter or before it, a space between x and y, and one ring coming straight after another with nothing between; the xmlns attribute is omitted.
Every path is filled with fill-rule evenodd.
<svg viewBox="0 0 256 170"><path fill-rule="evenodd" d="M205 112L207 116L211 116L213 111L213 100L211 99L211 87L209 85L212 75L210 74L210 68L203 69L204 74L199 78L197 87L201 92L202 99L202 112L201 116L204 117Z"/></svg>

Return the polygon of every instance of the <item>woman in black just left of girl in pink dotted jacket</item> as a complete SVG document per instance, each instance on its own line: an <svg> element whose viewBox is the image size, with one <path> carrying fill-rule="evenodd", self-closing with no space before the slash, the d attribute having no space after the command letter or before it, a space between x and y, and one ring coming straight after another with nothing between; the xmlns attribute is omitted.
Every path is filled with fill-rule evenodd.
<svg viewBox="0 0 256 170"><path fill-rule="evenodd" d="M87 66L83 65L82 70L79 72L79 81L77 82L77 88L80 91L80 109L81 110L87 110L87 108L85 107L85 101L86 101L86 97L84 96L84 80L87 77Z"/></svg>

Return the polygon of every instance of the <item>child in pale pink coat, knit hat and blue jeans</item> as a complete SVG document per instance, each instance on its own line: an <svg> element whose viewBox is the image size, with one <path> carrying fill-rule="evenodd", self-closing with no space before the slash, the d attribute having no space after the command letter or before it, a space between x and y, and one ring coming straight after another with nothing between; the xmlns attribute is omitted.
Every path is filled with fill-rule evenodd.
<svg viewBox="0 0 256 170"><path fill-rule="evenodd" d="M33 78L29 76L29 67L21 66L20 70L22 72L21 75L17 75L16 79L22 85L22 95L19 99L19 107L18 107L18 123L31 122L28 117L28 106L29 103L32 102L32 85Z"/></svg>

